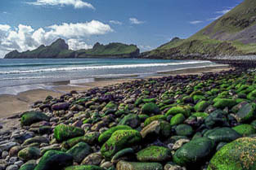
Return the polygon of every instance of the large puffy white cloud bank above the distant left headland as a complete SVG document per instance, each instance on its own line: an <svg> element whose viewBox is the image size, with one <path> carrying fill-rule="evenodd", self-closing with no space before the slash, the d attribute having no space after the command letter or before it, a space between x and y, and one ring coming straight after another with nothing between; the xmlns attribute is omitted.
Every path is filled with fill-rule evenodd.
<svg viewBox="0 0 256 170"><path fill-rule="evenodd" d="M42 44L50 45L52 41L59 37L67 41L70 49L88 49L92 46L85 43L84 39L92 35L102 35L113 31L110 25L103 24L97 20L77 24L55 24L38 29L23 24L20 24L17 28L11 28L7 24L0 24L0 53L7 53L11 50L34 50Z"/></svg>

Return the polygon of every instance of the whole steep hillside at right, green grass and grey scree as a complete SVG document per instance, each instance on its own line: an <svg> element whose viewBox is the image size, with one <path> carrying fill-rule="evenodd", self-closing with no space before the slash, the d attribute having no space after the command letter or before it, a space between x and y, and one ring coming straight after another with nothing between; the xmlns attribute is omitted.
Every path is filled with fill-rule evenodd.
<svg viewBox="0 0 256 170"><path fill-rule="evenodd" d="M256 1L245 0L187 39L172 41L141 54L143 58L213 59L256 54Z"/></svg>

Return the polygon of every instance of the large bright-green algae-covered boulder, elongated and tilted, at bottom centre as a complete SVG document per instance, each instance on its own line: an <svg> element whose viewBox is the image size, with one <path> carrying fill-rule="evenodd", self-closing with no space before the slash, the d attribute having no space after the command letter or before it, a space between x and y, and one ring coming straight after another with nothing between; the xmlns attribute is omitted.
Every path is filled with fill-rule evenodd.
<svg viewBox="0 0 256 170"><path fill-rule="evenodd" d="M141 133L137 130L118 130L101 147L101 154L106 159L110 159L119 150L138 142L141 142Z"/></svg>

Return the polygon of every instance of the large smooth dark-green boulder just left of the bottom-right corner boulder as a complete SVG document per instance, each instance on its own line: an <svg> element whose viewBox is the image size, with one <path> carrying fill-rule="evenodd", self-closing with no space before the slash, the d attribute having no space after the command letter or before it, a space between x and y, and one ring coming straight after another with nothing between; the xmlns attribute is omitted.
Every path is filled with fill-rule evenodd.
<svg viewBox="0 0 256 170"><path fill-rule="evenodd" d="M173 155L174 163L190 167L203 163L209 157L214 148L213 140L207 137L195 138L178 149Z"/></svg>

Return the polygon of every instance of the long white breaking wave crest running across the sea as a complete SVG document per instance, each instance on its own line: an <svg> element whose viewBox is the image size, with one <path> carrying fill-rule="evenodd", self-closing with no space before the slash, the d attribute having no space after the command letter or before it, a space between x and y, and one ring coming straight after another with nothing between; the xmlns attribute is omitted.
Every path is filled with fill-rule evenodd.
<svg viewBox="0 0 256 170"><path fill-rule="evenodd" d="M141 63L141 64L84 66L84 67L68 67L68 68L42 68L42 69L34 69L34 70L5 71L5 72L0 72L0 74L20 74L20 73L35 73L35 72L66 72L66 71L77 71L77 70L99 70L99 69L120 69L120 68L149 68L149 67L197 64L197 63L211 63L211 62L210 61L191 61L191 62L182 62L182 63Z"/></svg>

